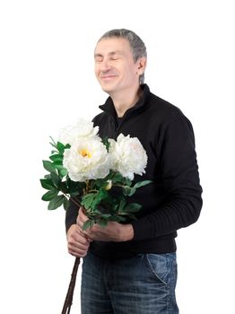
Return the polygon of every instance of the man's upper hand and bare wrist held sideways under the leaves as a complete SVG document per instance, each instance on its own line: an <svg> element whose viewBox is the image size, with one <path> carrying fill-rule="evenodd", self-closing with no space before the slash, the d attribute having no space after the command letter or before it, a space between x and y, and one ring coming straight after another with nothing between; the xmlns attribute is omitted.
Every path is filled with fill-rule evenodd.
<svg viewBox="0 0 235 314"><path fill-rule="evenodd" d="M88 220L80 207L77 217L77 224L83 233L83 236L89 240L122 242L134 238L134 230L131 224L121 224L117 222L108 222L106 227L94 224L93 227L83 231L83 223Z"/></svg>

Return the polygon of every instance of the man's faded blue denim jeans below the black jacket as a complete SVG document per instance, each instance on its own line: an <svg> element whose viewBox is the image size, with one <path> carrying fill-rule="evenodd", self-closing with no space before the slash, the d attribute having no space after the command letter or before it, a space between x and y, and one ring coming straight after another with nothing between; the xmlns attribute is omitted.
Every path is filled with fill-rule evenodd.
<svg viewBox="0 0 235 314"><path fill-rule="evenodd" d="M83 259L82 314L178 314L176 254Z"/></svg>

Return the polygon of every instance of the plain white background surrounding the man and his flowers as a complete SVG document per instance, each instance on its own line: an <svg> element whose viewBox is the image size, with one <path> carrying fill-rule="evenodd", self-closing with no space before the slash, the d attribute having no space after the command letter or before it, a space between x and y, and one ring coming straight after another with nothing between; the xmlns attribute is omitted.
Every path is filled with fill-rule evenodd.
<svg viewBox="0 0 235 314"><path fill-rule="evenodd" d="M21 0L0 4L1 313L58 314L74 257L64 209L40 200L48 136L106 99L93 48L113 28L146 44L146 83L193 123L204 207L178 231L181 314L235 313L232 1ZM81 269L81 268L80 268ZM79 313L79 283L72 313Z"/></svg>

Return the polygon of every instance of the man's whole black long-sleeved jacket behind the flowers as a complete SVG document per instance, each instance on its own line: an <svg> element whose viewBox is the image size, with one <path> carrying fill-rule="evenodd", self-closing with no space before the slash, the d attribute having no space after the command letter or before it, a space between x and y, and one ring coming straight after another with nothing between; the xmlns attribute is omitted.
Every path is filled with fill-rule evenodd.
<svg viewBox="0 0 235 314"><path fill-rule="evenodd" d="M109 97L93 119L100 137L117 138L120 133L137 137L148 155L146 173L136 180L151 179L139 188L131 202L143 205L131 222L135 238L126 242L91 243L91 252L107 258L176 250L177 230L196 222L202 207L202 188L196 162L195 138L190 121L175 106L153 95L146 84L143 94L123 118L117 119ZM75 223L77 208L66 212L66 229Z"/></svg>

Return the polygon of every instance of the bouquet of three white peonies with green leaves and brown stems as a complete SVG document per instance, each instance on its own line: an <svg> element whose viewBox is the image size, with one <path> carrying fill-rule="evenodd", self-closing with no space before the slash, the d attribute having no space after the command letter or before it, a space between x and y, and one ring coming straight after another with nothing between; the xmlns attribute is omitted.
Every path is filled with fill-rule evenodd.
<svg viewBox="0 0 235 314"><path fill-rule="evenodd" d="M40 179L42 188L48 190L42 200L48 202L49 210L61 205L66 210L69 202L78 209L83 206L89 218L83 230L94 223L106 226L110 221L135 219L141 205L128 203L126 196L133 196L137 188L151 183L133 183L135 174L142 175L147 165L147 154L136 137L120 134L115 141L101 139L98 132L98 126L83 118L63 128L57 143L51 138L53 150L49 161L43 161L48 173ZM69 313L72 305L79 262L76 257L62 314Z"/></svg>

